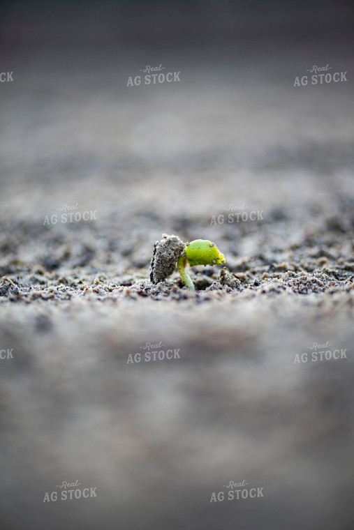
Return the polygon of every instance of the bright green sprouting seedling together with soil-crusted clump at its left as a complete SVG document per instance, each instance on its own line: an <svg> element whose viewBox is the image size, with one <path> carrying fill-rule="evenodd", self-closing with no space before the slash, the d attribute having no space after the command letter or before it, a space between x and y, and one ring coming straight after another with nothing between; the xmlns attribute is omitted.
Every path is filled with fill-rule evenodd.
<svg viewBox="0 0 354 530"><path fill-rule="evenodd" d="M161 241L156 241L154 247L150 273L152 282L158 283L170 276L175 270L176 262L186 287L195 291L186 265L219 265L225 262L225 258L211 241L196 239L191 243L183 243L178 236L163 234Z"/></svg>

